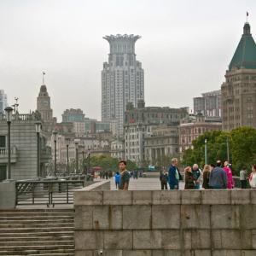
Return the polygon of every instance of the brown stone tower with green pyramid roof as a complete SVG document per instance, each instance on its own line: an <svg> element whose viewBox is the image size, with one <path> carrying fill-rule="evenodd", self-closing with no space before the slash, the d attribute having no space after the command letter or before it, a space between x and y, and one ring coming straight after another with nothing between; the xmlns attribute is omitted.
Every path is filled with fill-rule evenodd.
<svg viewBox="0 0 256 256"><path fill-rule="evenodd" d="M256 128L256 44L248 22L221 86L223 129Z"/></svg>

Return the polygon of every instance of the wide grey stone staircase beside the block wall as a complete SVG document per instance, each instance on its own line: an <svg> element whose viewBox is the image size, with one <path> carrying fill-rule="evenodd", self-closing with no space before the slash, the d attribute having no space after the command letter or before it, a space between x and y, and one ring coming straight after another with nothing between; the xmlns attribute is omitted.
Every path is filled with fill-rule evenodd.
<svg viewBox="0 0 256 256"><path fill-rule="evenodd" d="M73 256L73 209L0 210L0 255Z"/></svg>

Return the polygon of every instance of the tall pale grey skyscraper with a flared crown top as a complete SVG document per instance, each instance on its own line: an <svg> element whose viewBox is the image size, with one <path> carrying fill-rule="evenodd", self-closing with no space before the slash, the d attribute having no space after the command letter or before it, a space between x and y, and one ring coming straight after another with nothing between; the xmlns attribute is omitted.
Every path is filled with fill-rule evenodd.
<svg viewBox="0 0 256 256"><path fill-rule="evenodd" d="M135 54L139 38L126 34L104 37L110 53L102 70L102 121L111 123L119 137L123 137L126 104L132 102L137 108L138 99L144 99L144 71Z"/></svg>

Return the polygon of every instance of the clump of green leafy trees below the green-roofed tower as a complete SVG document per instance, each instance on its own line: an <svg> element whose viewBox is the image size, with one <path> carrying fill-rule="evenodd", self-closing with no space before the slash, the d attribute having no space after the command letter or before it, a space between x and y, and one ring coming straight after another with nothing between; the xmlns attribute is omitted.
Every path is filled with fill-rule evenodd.
<svg viewBox="0 0 256 256"><path fill-rule="evenodd" d="M227 140L230 143L230 163L233 173L238 174L242 167L250 169L256 164L256 130L251 127L240 127L230 132L207 131L192 142L193 149L183 153L183 165L192 166L194 163L204 166L205 139L207 138L207 162L228 159Z"/></svg>

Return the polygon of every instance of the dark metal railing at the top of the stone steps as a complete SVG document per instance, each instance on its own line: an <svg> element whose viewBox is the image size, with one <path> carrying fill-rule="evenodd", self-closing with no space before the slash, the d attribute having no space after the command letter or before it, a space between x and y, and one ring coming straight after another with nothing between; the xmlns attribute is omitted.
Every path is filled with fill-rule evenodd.
<svg viewBox="0 0 256 256"><path fill-rule="evenodd" d="M84 187L84 180L16 182L16 206L73 204L73 191Z"/></svg>

